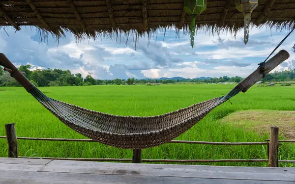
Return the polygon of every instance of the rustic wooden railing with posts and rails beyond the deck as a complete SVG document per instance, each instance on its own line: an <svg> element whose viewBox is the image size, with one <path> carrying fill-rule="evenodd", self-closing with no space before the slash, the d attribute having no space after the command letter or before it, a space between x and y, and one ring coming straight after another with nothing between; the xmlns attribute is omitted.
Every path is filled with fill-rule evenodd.
<svg viewBox="0 0 295 184"><path fill-rule="evenodd" d="M15 124L5 125L6 138L8 143L8 157L10 158L40 158L40 157L18 157L18 143L17 140L45 140L45 141L75 141L75 142L95 142L91 139L64 139L64 138L36 138L36 137L17 137L15 131ZM269 167L278 167L279 162L295 162L295 160L278 160L278 147L281 142L294 143L295 140L278 140L279 128L271 127L270 139L265 139L266 142L207 142L207 141L186 141L186 140L172 140L168 143L180 144L206 144L206 145L267 145L268 159L142 159L142 150L133 150L133 158L51 158L41 157L42 159L59 159L59 160L83 160L83 161L120 161L120 162L266 162Z"/></svg>

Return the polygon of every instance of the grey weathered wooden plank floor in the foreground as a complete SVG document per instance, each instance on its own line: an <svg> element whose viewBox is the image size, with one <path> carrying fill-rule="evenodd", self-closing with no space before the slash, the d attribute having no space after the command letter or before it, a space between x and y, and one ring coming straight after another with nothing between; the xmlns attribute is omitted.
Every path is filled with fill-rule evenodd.
<svg viewBox="0 0 295 184"><path fill-rule="evenodd" d="M0 158L0 184L295 184L295 168Z"/></svg>

